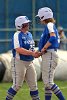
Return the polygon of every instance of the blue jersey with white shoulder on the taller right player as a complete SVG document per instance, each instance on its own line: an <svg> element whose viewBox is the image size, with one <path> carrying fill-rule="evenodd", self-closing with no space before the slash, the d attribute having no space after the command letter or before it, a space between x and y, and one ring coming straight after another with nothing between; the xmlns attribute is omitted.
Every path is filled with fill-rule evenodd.
<svg viewBox="0 0 67 100"><path fill-rule="evenodd" d="M39 41L39 51L44 47L44 45L49 41L50 33L54 32L56 35L56 40L52 42L51 46L49 46L47 49L57 49L59 47L60 38L58 31L53 23L48 23L45 25L45 29L41 35L40 41Z"/></svg>

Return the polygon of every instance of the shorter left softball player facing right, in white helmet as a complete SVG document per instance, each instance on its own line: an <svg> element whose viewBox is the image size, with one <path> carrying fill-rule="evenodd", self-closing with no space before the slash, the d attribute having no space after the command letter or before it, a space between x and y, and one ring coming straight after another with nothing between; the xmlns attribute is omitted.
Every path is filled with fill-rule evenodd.
<svg viewBox="0 0 67 100"><path fill-rule="evenodd" d="M6 100L12 100L21 88L24 79L30 88L32 100L40 100L38 96L36 71L33 66L33 59L36 57L34 41L29 30L30 20L26 16L19 16L15 20L18 30L12 39L12 76L13 85L9 88Z"/></svg>

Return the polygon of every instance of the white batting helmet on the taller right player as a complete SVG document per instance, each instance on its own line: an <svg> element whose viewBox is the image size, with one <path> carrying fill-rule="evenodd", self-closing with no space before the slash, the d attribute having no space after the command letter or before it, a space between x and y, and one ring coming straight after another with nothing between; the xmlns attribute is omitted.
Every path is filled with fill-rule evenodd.
<svg viewBox="0 0 67 100"><path fill-rule="evenodd" d="M53 18L53 12L50 8L43 7L38 10L38 15L36 16L39 16L40 20L43 21L48 18Z"/></svg>

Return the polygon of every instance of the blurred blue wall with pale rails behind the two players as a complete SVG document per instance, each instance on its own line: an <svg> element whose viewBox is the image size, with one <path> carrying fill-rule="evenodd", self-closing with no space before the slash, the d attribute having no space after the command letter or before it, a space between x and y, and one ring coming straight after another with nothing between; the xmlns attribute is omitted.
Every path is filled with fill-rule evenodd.
<svg viewBox="0 0 67 100"><path fill-rule="evenodd" d="M0 53L11 50L11 38L15 32L14 21L20 15L26 15L32 21L30 31L36 46L38 45L43 26L38 23L35 15L44 6L53 10L56 27L62 26L67 37L67 0L0 0ZM67 41L63 45L64 50L67 50Z"/></svg>

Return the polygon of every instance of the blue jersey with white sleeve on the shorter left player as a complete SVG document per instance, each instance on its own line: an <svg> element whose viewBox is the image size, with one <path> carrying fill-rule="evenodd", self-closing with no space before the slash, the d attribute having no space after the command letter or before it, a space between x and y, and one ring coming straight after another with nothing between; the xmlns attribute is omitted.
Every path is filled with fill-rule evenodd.
<svg viewBox="0 0 67 100"><path fill-rule="evenodd" d="M34 41L32 38L32 34L27 32L24 34L23 32L17 31L12 39L12 53L13 57L18 58L23 61L32 61L34 59L33 56L18 54L16 52L16 48L25 48L27 50L34 50Z"/></svg>

